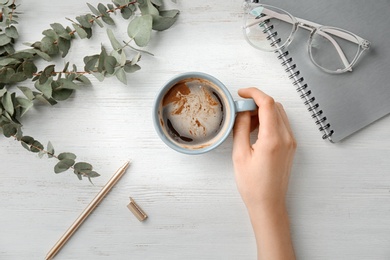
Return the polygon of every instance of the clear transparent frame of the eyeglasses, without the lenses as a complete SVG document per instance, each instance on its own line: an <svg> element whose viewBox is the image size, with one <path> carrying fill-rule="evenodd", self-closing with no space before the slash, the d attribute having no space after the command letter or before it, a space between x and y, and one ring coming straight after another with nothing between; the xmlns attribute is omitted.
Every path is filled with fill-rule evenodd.
<svg viewBox="0 0 390 260"><path fill-rule="evenodd" d="M287 12L287 11L285 11L285 10L279 8L279 7L275 7L275 6L272 6L272 5L266 5L266 4L260 4L258 0L245 0L244 1L244 6L243 6L244 10L253 10L253 9L255 9L254 7L250 6L250 3L256 4L256 7L264 7L266 10L271 11L272 13L275 13L275 12L273 12L270 9L268 9L267 7L271 7L271 8L274 8L276 10L283 11L284 13L286 13L286 15L289 16L289 18L293 22L292 23L293 29L292 29L288 39L286 40L286 42L283 43L283 45L281 45L281 46L279 46L278 43L276 42L275 43L276 48L274 48L272 50L261 49L261 48L255 46L249 39L247 39L248 42L253 47L255 47L257 49L260 49L262 51L279 51L281 49L284 49L284 48L288 47L290 45L290 43L293 41L294 36L295 36L296 32L298 31L298 28L301 27L303 29L306 29L306 30L310 31L310 36L309 36L307 47L308 47L308 52L309 52L310 59L314 63L314 65L316 65L318 68L322 69L323 71L325 71L327 73L340 74L340 73L344 73L344 72L347 72L347 71L352 72L352 67L356 64L356 62L358 61L358 59L360 58L362 53L370 48L371 43L368 40L365 40L362 37L360 37L360 36L350 32L350 31L347 31L347 30L344 30L344 29L341 29L341 28L337 28L337 27L333 27L333 26L324 26L324 25L321 25L321 24L318 24L318 23L315 23L315 22L311 22L311 21L308 21L308 20L305 20L305 19L302 19L302 18L295 17L295 16L291 15L289 12ZM275 17L275 18L277 18L279 20L282 20L284 22L287 22L287 23L291 22L290 19L286 19L285 17L281 17L281 16L285 16L285 14L274 15L273 17ZM257 19L257 17L256 17L256 19ZM267 19L269 19L269 18L267 18ZM267 19L264 19L264 21L267 20ZM243 29L246 29L246 28L251 27L251 26L256 25L256 24L258 24L258 22L250 24L249 26L244 26ZM351 62L349 62L347 60L347 58L345 57L345 54L342 51L341 47L336 42L336 40L333 39L333 37L331 37L327 33L322 33L321 34L321 30L322 29L333 29L333 30L336 30L338 33L330 33L330 34L332 34L334 36L338 36L338 37L340 37L340 38L342 38L344 40L350 41L350 42L356 42L356 40L358 40L358 42L357 42L358 51L357 51L356 56L354 57L354 59ZM269 30L267 30L267 32L269 32ZM338 52L338 54L339 54L343 64L345 65L344 69L339 69L339 70L333 71L333 70L328 70L326 68L323 68L322 66L317 64L317 62L313 59L311 48L310 48L312 40L313 40L313 36L315 34L319 34L319 35L325 37L326 39L328 39L335 46L335 48L336 48L336 50L337 50L337 52ZM355 38L353 38L353 37L355 37Z"/></svg>

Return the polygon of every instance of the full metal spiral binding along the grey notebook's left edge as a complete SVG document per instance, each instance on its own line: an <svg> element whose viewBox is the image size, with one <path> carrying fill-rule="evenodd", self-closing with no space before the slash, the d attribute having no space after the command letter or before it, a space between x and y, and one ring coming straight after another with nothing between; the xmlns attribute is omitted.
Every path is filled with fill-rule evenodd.
<svg viewBox="0 0 390 260"><path fill-rule="evenodd" d="M263 16L265 15L259 15L259 17ZM272 47L279 47L278 45L281 39L277 37L278 33L274 30L274 26L270 24L270 20L263 21L262 27L264 28L263 33L268 34L266 39L270 41L270 45ZM303 103L311 113L311 117L315 120L316 125L319 126L318 129L323 133L322 138L331 140L334 131L331 129L330 123L327 122L327 118L320 109L320 105L315 102L316 99L312 95L308 85L304 82L304 78L300 76L300 71L297 69L297 65L293 63L293 58L289 56L289 52L284 48L278 48L275 53L278 54L278 59L282 61L281 64L285 67L285 71L289 74L288 77L293 81L292 84L296 87L301 99L304 100Z"/></svg>

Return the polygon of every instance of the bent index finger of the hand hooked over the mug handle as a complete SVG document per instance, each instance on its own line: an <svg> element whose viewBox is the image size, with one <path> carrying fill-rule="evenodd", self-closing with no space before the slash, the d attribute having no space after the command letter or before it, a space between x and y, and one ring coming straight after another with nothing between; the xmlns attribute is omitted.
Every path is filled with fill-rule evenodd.
<svg viewBox="0 0 390 260"><path fill-rule="evenodd" d="M260 130L275 131L278 128L279 115L276 111L275 100L257 88L244 88L238 90L243 98L253 98L259 107ZM260 134L261 131L259 131Z"/></svg>

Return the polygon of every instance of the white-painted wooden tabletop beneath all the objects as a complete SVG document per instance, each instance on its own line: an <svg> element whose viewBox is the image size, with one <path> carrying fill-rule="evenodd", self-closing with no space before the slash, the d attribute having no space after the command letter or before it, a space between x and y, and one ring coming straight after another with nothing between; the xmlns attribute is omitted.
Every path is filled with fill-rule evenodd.
<svg viewBox="0 0 390 260"><path fill-rule="evenodd" d="M70 25L65 17L89 12L77 0L20 3L21 43L40 40L50 23ZM232 137L214 152L188 156L168 148L154 131L154 96L187 71L214 75L234 97L239 88L257 86L285 106L298 141L288 191L298 259L390 259L390 118L339 144L322 140L274 54L245 42L241 1L167 4L181 11L180 18L153 35L147 50L154 56L143 55L142 69L127 76L127 86L90 78L91 87L54 107L38 106L23 121L26 135L92 163L101 174L94 185L72 172L56 175L55 159L39 159L0 138L0 259L43 259L129 159L128 172L56 259L256 258L234 181ZM118 21L114 30L125 39L127 25ZM109 46L105 30L74 41L66 60L83 67L82 58L98 53L101 42ZM127 209L129 196L147 221Z"/></svg>

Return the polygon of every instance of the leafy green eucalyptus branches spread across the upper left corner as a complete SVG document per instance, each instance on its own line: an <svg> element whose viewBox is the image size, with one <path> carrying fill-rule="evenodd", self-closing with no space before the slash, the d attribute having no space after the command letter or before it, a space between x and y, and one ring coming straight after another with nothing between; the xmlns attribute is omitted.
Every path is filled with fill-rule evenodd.
<svg viewBox="0 0 390 260"><path fill-rule="evenodd" d="M127 84L126 73L141 69L138 64L141 52L151 54L131 46L130 43L134 42L140 48L145 47L150 41L152 30L166 30L177 19L178 10L160 10L162 1L112 0L112 4L99 3L96 7L88 4L91 13L77 16L75 18L77 22L67 19L72 23L73 29L60 23L50 24L50 28L42 32L44 36L40 41L28 44L27 49L15 51L13 43L18 38L17 28L13 26L17 24L16 1L10 3L10 0L3 0L1 2L3 4L0 4L3 10L0 13L0 132L5 137L15 137L31 152L57 158L59 162L55 167L56 173L73 169L80 179L82 176L88 178L98 176L92 171L90 164L75 163L74 154L61 153L54 156L50 142L48 150L45 150L33 137L23 136L22 117L36 101L55 105L67 100L76 90L91 84L87 77L89 75L93 75L100 81L106 77L116 76L123 84ZM80 39L89 39L95 23L100 27L104 27L104 24L115 25L110 15L118 11L123 19L129 20L127 34L130 40L123 41L124 45L119 43L110 29L107 29L112 51L107 52L102 46L100 53L85 56L84 70L79 70L76 65L70 66L69 62L66 62L62 71L56 71L54 64L49 64L38 71L37 59L50 62L52 58L59 55L65 58L71 50L72 41L77 39L76 36ZM1 33L2 31L4 33ZM123 51L125 47L130 47L135 54L127 57ZM26 80L30 80L33 87L18 86L24 96L10 91L11 86Z"/></svg>

